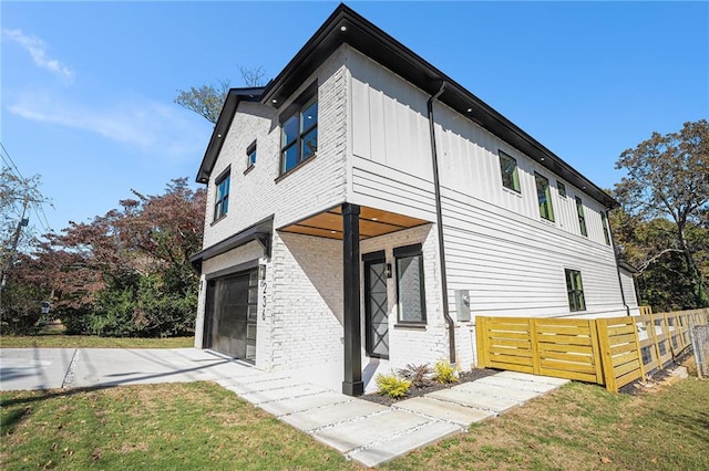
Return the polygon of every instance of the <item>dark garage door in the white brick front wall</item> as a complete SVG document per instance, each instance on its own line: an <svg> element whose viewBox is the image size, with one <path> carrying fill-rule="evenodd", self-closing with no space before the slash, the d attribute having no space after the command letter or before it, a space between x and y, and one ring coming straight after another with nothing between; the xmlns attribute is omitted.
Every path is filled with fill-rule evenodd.
<svg viewBox="0 0 709 471"><path fill-rule="evenodd" d="M207 291L206 347L256 359L258 270L212 280Z"/></svg>

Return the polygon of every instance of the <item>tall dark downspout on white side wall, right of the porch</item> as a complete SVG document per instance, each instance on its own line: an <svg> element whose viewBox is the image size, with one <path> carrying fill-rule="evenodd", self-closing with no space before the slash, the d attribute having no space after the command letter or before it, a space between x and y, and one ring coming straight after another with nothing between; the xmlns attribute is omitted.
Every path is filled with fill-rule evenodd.
<svg viewBox="0 0 709 471"><path fill-rule="evenodd" d="M439 233L439 261L441 263L441 292L443 294L443 317L448 324L448 337L450 346L451 365L455 364L455 323L451 318L448 307L448 276L445 274L445 244L443 243L443 210L441 207L441 180L439 179L439 155L435 147L435 124L433 122L433 102L441 96L448 83L441 82L441 88L432 95L428 102L429 108L429 133L431 135L431 157L433 160L433 188L435 190L435 224Z"/></svg>

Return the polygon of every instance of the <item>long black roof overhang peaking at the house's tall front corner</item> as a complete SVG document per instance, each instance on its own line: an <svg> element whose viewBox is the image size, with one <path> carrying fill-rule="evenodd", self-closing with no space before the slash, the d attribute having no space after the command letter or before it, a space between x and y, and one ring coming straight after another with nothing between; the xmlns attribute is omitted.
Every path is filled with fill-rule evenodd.
<svg viewBox="0 0 709 471"><path fill-rule="evenodd" d="M266 86L261 94L261 103L279 108L322 61L343 43L349 44L430 95L433 95L441 87L442 82L446 82L445 92L439 97L441 103L513 145L543 167L592 196L606 208L612 209L619 206L602 188L492 106L345 4L337 7L288 65Z"/></svg>

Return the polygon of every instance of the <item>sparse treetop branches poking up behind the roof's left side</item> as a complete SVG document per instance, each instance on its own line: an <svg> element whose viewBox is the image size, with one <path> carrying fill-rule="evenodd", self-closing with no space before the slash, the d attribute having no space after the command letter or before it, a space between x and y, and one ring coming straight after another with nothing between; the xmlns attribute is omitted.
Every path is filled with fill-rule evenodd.
<svg viewBox="0 0 709 471"><path fill-rule="evenodd" d="M256 87L263 86L266 71L263 65L256 69L248 69L239 65L242 81L245 86ZM217 85L202 85L199 87L189 87L188 91L178 90L175 103L179 106L197 113L209 123L216 124L222 113L222 106L229 93L230 82L220 80Z"/></svg>

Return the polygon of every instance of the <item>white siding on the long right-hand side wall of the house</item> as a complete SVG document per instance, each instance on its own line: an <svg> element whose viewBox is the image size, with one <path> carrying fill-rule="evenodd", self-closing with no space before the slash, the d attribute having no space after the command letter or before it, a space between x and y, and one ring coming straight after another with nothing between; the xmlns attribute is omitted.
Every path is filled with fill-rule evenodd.
<svg viewBox="0 0 709 471"><path fill-rule="evenodd" d="M349 50L353 202L435 221L429 95ZM603 206L451 108L434 104L449 305L469 290L477 315L624 314ZM517 160L521 192L502 186L497 151ZM555 221L540 218L534 172L549 180ZM588 237L580 234L575 197ZM569 313L564 269L582 272L587 310Z"/></svg>

